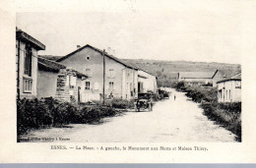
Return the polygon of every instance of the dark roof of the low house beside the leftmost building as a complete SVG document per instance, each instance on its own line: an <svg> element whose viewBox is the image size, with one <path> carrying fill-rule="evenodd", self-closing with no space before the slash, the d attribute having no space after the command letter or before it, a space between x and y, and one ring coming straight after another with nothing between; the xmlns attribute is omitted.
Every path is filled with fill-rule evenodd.
<svg viewBox="0 0 256 168"><path fill-rule="evenodd" d="M59 63L56 63L54 61L47 60L47 59L44 59L44 58L40 58L40 57L38 57L38 66L42 66L43 68L46 68L47 70L53 71L53 72L59 72L60 69L66 69L67 68L66 66L64 66L62 64L59 64ZM75 72L77 73L77 75L79 77L88 78L88 76L83 74L83 73L80 73L78 71L75 71Z"/></svg>

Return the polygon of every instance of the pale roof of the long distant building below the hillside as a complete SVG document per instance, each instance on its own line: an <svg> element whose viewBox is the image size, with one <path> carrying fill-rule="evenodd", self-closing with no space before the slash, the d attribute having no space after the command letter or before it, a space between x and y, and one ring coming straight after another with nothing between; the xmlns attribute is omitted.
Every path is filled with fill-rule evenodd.
<svg viewBox="0 0 256 168"><path fill-rule="evenodd" d="M181 79L212 79L216 72L179 72Z"/></svg>

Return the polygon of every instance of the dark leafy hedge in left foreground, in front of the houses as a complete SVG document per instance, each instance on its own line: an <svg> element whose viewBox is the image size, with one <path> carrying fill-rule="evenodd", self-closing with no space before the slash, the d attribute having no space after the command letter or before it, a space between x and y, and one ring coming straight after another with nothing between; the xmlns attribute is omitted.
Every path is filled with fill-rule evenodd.
<svg viewBox="0 0 256 168"><path fill-rule="evenodd" d="M54 99L17 100L17 134L26 134L33 129L62 127L73 124L95 124L103 117L114 116L119 111L109 106L81 107L69 102L59 103Z"/></svg>

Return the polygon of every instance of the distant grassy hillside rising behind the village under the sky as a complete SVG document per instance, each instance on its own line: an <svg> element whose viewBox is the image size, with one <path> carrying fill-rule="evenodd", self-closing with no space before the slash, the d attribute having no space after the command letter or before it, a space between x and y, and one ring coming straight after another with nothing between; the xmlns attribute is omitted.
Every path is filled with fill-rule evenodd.
<svg viewBox="0 0 256 168"><path fill-rule="evenodd" d="M171 81L171 79L177 78L178 72L213 72L218 69L224 73L226 78L230 78L237 72L241 71L241 65L239 64L191 61L158 61L144 59L123 60L152 74L155 74L159 78L159 81L161 81L161 79Z"/></svg>

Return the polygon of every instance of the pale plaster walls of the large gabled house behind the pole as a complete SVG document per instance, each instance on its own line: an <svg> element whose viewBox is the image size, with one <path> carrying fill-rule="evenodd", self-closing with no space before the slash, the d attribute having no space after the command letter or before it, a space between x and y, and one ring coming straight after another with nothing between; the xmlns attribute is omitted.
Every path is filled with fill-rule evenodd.
<svg viewBox="0 0 256 168"><path fill-rule="evenodd" d="M87 57L90 57L88 60ZM60 61L61 64L67 67L72 67L82 73L87 73L86 69L91 69L92 77L83 81L91 83L90 89L84 90L83 101L99 100L103 88L103 57L91 47L86 47L74 55ZM114 76L110 76L110 69L114 70ZM128 76L129 74L129 76ZM137 89L137 73L136 70L127 68L124 65L105 56L105 96L108 97L112 93L114 98L131 99L131 90ZM113 89L109 89L109 83L113 83ZM128 87L128 84L129 87ZM136 84L135 84L136 83ZM130 86L130 84L132 86ZM98 86L95 89L95 86ZM129 89L129 90L128 90Z"/></svg>

